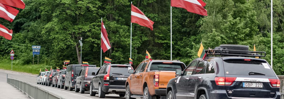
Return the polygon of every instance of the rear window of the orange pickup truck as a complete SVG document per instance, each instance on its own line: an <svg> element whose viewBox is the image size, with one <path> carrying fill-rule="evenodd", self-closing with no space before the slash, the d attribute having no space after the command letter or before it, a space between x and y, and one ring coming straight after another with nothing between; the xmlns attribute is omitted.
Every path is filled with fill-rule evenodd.
<svg viewBox="0 0 284 99"><path fill-rule="evenodd" d="M177 69L183 70L182 64L170 63L170 62L152 63L150 67L150 71L151 70L176 71Z"/></svg>

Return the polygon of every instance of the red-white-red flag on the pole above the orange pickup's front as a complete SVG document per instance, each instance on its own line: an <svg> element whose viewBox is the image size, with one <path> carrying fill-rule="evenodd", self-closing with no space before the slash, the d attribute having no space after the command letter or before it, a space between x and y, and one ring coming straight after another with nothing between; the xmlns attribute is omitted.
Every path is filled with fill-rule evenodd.
<svg viewBox="0 0 284 99"><path fill-rule="evenodd" d="M141 26L148 27L153 31L154 22L147 18L145 14L131 4L131 23L137 23Z"/></svg>

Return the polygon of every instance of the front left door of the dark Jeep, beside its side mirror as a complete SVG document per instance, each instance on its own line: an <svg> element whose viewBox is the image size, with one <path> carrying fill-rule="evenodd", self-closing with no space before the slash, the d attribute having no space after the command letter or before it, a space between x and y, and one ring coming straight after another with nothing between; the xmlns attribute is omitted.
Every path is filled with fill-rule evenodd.
<svg viewBox="0 0 284 99"><path fill-rule="evenodd" d="M187 99L188 94L188 80L193 73L195 66L197 65L198 60L194 60L187 68L183 71L183 76L180 76L176 82L177 94L176 98L178 99Z"/></svg>

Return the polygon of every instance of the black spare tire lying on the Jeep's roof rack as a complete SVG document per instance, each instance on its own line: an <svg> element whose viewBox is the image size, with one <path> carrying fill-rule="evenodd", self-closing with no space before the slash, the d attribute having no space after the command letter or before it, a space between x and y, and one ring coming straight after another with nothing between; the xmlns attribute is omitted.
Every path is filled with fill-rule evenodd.
<svg viewBox="0 0 284 99"><path fill-rule="evenodd" d="M249 46L245 45L222 44L219 47L227 48L227 50L249 51ZM239 52L239 51L229 51L229 54L242 54L242 55L248 54L248 52Z"/></svg>

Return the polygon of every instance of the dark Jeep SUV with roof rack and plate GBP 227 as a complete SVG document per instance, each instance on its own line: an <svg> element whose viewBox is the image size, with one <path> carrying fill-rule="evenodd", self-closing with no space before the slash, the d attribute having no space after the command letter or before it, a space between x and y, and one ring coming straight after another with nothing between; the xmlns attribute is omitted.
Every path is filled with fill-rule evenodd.
<svg viewBox="0 0 284 99"><path fill-rule="evenodd" d="M251 58L265 57L265 52L209 51L205 59L193 60L183 72L176 70L178 77L167 85L167 99L280 99L280 81L269 63ZM210 57L214 51L221 53Z"/></svg>

